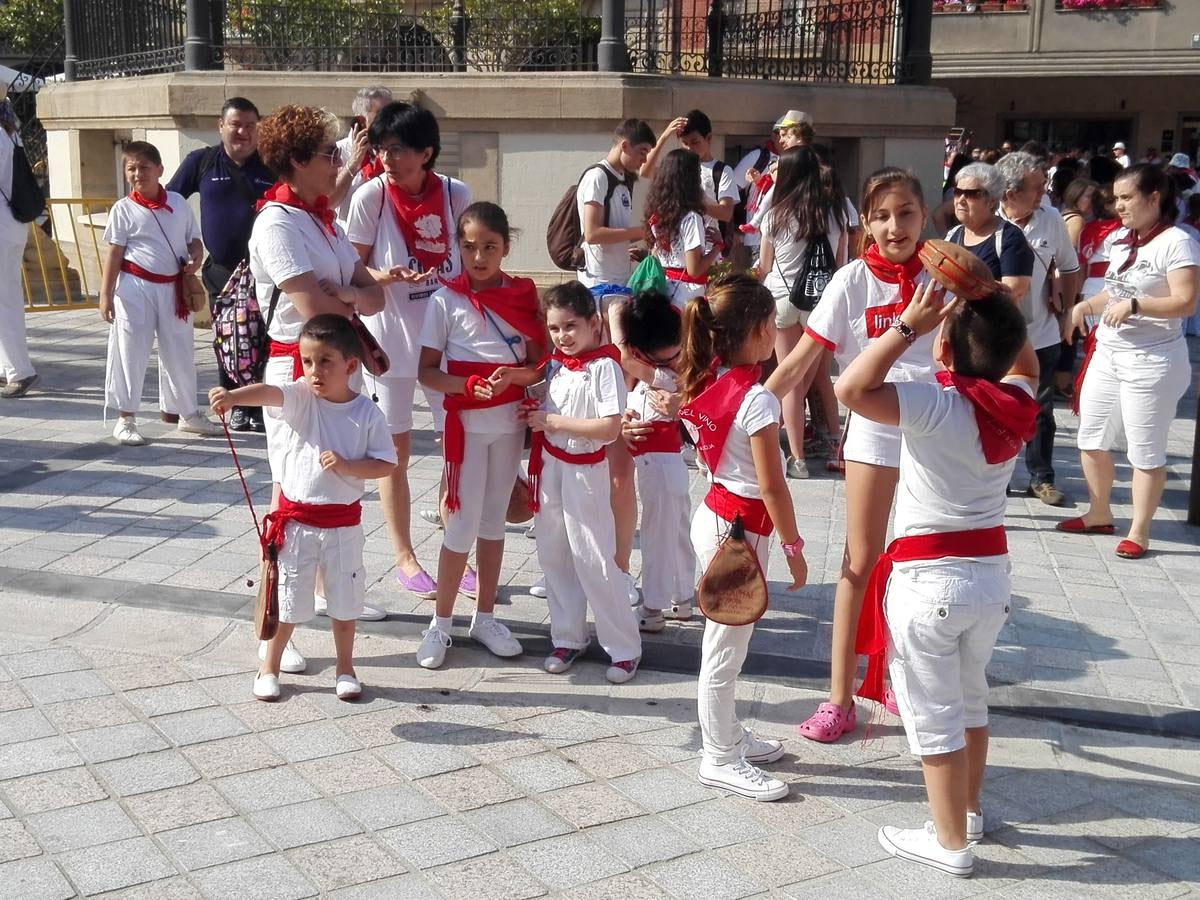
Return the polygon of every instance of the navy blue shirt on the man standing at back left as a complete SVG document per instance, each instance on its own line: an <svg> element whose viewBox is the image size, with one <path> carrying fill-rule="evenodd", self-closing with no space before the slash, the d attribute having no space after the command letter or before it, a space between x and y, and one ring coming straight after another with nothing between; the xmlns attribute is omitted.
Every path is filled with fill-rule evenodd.
<svg viewBox="0 0 1200 900"><path fill-rule="evenodd" d="M256 152L239 168L217 144L211 164L202 172L205 155L214 148L193 150L179 164L167 184L168 191L191 197L200 194L200 236L209 254L226 269L233 269L250 256L250 232L254 227L254 200L271 185L275 175ZM241 181L230 174L234 169ZM241 185L245 184L245 186Z"/></svg>

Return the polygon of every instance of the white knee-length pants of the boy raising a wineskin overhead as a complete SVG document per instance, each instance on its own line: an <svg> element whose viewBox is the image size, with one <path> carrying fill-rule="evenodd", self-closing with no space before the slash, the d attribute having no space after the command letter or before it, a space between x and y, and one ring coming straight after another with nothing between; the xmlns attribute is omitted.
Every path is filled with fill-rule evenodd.
<svg viewBox="0 0 1200 900"><path fill-rule="evenodd" d="M896 565L883 610L888 674L908 749L917 756L966 746L988 724L988 661L1008 620L1008 557Z"/></svg>

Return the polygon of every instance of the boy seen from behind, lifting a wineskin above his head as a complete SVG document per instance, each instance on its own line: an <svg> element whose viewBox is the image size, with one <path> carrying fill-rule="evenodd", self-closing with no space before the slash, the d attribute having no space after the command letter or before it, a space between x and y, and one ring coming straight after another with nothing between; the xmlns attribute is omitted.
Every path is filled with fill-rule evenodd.
<svg viewBox="0 0 1200 900"><path fill-rule="evenodd" d="M934 358L946 371L937 384L884 382L940 324ZM856 415L901 431L896 536L871 574L858 622L854 649L868 656L858 695L882 700L887 654L932 821L884 826L878 839L894 857L958 876L971 875L972 846L983 839L985 670L1012 592L1006 492L1033 434L1037 384L1025 320L1006 295L943 305L941 289L926 284L835 385Z"/></svg>

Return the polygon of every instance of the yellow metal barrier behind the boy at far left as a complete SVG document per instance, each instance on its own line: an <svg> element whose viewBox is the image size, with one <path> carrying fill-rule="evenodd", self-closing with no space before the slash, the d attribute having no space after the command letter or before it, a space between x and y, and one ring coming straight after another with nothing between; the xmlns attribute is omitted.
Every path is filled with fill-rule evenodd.
<svg viewBox="0 0 1200 900"><path fill-rule="evenodd" d="M114 203L97 198L46 202L49 215L29 226L20 268L25 312L96 307L104 223Z"/></svg>

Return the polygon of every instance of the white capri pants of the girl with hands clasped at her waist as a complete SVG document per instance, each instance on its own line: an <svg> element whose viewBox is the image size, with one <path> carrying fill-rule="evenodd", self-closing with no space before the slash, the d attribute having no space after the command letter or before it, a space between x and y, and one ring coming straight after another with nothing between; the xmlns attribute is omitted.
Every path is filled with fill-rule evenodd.
<svg viewBox="0 0 1200 900"><path fill-rule="evenodd" d="M524 428L496 434L467 432L458 481L461 505L446 521L442 546L468 553L476 540L504 540L504 520L523 450Z"/></svg>

